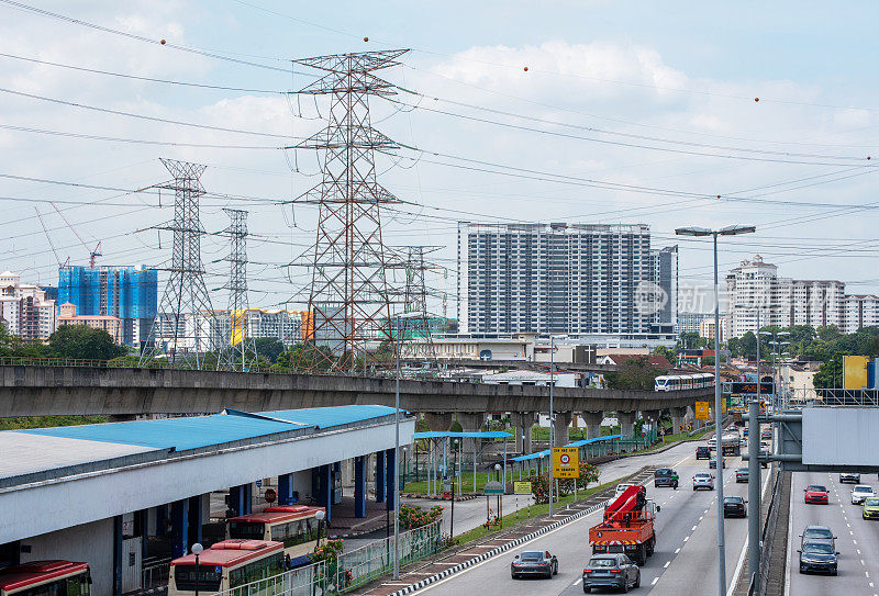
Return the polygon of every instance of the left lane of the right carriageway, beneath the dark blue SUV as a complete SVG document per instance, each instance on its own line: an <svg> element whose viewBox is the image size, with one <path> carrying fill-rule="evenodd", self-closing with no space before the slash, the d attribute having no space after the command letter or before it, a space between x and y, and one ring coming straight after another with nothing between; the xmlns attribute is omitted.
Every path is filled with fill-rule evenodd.
<svg viewBox="0 0 879 596"><path fill-rule="evenodd" d="M788 532L788 563L786 595L799 594L838 595L872 594L870 580L865 575L864 566L855 553L854 530L849 529L850 518L846 520L845 501L848 494L839 494L838 486L833 491L833 480L826 473L798 472L791 474L790 521ZM810 484L823 484L831 490L827 505L806 505L803 492ZM817 575L800 573L801 535L806 526L826 526L837 537L836 550L839 551L838 575Z"/></svg>

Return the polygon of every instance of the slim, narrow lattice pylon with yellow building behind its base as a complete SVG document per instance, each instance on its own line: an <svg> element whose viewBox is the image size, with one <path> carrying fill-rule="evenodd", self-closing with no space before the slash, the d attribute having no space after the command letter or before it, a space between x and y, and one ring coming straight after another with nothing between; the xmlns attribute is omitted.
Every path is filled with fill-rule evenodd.
<svg viewBox="0 0 879 596"><path fill-rule="evenodd" d="M256 342L247 336L247 212L238 209L224 209L230 224L226 233L230 238L229 283L229 334L221 352L220 368L257 371L259 360Z"/></svg>

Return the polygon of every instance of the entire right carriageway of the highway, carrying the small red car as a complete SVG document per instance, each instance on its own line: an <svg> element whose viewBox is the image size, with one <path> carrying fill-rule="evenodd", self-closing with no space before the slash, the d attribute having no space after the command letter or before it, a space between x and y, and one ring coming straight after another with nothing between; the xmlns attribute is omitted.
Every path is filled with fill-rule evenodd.
<svg viewBox="0 0 879 596"><path fill-rule="evenodd" d="M861 484L879 490L874 474L864 474ZM827 505L806 505L803 490L823 484L830 491ZM838 474L794 473L791 476L790 528L786 596L865 594L877 596L879 582L879 521L861 518L860 505L852 505L853 484L839 484ZM827 526L836 535L839 574L836 577L800 573L800 535L806 526Z"/></svg>

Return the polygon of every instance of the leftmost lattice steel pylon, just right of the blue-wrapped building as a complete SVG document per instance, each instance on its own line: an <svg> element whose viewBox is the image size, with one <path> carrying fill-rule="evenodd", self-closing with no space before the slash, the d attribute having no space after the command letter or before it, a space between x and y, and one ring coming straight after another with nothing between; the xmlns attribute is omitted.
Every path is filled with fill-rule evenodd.
<svg viewBox="0 0 879 596"><path fill-rule="evenodd" d="M177 367L202 370L210 368L207 353L219 357L220 352L220 327L201 263L204 228L199 218L199 196L204 194L204 188L199 178L207 166L164 158L162 162L174 176L170 182L154 187L174 191L174 222L159 227L174 232L171 263L140 362L145 366L164 356Z"/></svg>

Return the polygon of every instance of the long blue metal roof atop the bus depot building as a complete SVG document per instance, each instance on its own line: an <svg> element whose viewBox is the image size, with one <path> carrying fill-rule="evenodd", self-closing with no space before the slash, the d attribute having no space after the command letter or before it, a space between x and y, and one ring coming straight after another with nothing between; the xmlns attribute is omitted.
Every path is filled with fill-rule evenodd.
<svg viewBox="0 0 879 596"><path fill-rule="evenodd" d="M392 407L371 405L314 407L259 414L226 411L225 414L211 416L34 428L14 432L137 445L156 449L174 448L177 451L183 451L298 428L316 429L340 426L388 414L393 414Z"/></svg>

